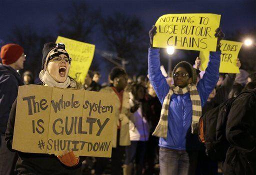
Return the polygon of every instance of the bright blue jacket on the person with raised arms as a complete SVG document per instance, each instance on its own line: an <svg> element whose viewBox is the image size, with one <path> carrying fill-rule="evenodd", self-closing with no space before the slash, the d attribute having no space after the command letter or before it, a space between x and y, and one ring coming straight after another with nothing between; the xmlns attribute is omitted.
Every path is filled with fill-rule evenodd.
<svg viewBox="0 0 256 175"><path fill-rule="evenodd" d="M220 52L210 52L208 67L202 79L197 83L197 90L201 99L201 106L207 101L210 92L219 77ZM164 76L160 71L159 49L148 49L149 80L161 104L169 91ZM168 113L167 137L159 139L159 146L169 149L185 150L186 134L192 122L192 103L189 93L171 96Z"/></svg>

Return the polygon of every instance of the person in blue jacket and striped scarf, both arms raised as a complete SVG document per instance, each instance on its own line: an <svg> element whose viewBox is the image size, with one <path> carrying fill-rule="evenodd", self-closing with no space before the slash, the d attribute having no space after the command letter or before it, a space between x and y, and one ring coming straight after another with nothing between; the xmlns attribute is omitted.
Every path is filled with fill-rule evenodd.
<svg viewBox="0 0 256 175"><path fill-rule="evenodd" d="M169 86L160 71L159 49L152 48L156 27L149 31L148 49L149 80L162 104L161 116L153 135L159 138L160 174L189 174L193 161L186 152L187 132L196 134L201 107L219 77L219 42L224 37L221 29L216 30L217 51L210 52L208 67L196 84L196 72L188 62L180 62L173 69L174 85ZM191 135L192 135L191 134ZM192 139L191 139L192 140Z"/></svg>

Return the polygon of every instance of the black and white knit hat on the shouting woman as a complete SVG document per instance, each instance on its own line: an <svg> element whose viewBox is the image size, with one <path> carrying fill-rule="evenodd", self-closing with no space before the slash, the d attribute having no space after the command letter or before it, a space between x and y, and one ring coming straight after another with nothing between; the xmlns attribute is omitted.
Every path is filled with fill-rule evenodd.
<svg viewBox="0 0 256 175"><path fill-rule="evenodd" d="M67 57L69 57L66 50L65 50L65 45L64 44L61 44L61 43L58 43L58 44L56 44L56 43L45 43L44 46L43 46L43 49L42 49L42 65L41 65L42 70L44 69L44 64L45 64L46 58L48 56L48 53L52 52L54 49L56 49L56 50L55 50L55 53L52 56L58 56L60 54L64 54ZM49 60L47 60L46 65L48 64L48 61Z"/></svg>

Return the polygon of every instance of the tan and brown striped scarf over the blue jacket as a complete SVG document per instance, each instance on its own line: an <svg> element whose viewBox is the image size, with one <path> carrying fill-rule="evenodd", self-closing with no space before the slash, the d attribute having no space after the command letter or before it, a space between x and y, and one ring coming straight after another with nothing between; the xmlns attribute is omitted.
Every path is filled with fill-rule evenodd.
<svg viewBox="0 0 256 175"><path fill-rule="evenodd" d="M194 84L189 84L188 86L184 88L180 88L178 86L171 85L170 90L166 97L164 98L162 109L161 109L161 115L159 122L153 132L152 135L157 137L167 137L167 127L168 127L168 109L169 109L169 103L171 99L171 95L174 94L185 94L189 92L190 99L192 102L192 123L191 123L191 131L192 133L197 133L198 128L198 121L201 116L201 100L200 96L198 94L198 91L196 89L196 86ZM175 109L172 109L175 110Z"/></svg>

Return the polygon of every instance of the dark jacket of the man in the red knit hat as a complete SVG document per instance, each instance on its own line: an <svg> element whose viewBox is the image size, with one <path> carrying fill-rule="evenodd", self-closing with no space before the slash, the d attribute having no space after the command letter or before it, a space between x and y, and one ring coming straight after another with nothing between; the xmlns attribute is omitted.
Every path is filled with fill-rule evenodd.
<svg viewBox="0 0 256 175"><path fill-rule="evenodd" d="M4 134L11 105L17 98L20 75L10 66L0 65L0 133Z"/></svg>

